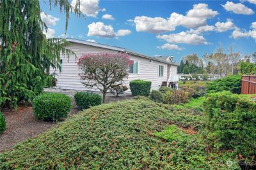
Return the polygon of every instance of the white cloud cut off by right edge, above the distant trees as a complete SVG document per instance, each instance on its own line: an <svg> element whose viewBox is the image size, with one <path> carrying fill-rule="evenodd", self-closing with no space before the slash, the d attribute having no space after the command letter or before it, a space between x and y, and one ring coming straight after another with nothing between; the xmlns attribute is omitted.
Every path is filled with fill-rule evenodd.
<svg viewBox="0 0 256 170"><path fill-rule="evenodd" d="M252 28L252 30L250 30L250 31L241 31L241 29L236 28L236 30L234 30L232 32L232 37L235 39L251 37L256 40L256 22L252 23L251 28Z"/></svg>

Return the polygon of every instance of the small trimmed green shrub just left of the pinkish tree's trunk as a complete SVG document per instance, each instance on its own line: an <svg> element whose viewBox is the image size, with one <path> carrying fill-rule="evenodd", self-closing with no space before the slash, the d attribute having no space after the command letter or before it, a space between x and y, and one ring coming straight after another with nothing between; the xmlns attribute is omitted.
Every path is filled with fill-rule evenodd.
<svg viewBox="0 0 256 170"><path fill-rule="evenodd" d="M77 92L74 97L76 105L80 110L88 109L102 103L102 97L92 92Z"/></svg>

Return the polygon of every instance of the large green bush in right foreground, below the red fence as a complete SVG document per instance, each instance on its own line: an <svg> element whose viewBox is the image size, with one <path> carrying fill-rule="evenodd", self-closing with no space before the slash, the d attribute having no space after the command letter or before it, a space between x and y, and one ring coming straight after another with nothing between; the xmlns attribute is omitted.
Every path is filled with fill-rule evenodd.
<svg viewBox="0 0 256 170"><path fill-rule="evenodd" d="M253 159L256 153L256 103L231 92L209 94L204 102L209 144L217 149L236 150Z"/></svg>

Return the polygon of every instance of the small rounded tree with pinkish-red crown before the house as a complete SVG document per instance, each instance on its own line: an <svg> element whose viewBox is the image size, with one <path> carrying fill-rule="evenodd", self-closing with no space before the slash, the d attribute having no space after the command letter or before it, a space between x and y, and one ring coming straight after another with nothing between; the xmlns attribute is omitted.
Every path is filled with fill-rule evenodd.
<svg viewBox="0 0 256 170"><path fill-rule="evenodd" d="M77 62L85 87L97 87L103 103L109 89L122 85L132 64L127 53L86 53Z"/></svg>

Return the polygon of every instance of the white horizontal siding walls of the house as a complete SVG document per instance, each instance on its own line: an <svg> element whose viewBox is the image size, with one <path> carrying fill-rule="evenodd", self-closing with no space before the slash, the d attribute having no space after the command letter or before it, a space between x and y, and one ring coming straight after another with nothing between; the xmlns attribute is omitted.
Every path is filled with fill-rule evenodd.
<svg viewBox="0 0 256 170"><path fill-rule="evenodd" d="M61 55L62 59L62 69L61 72L56 72L57 78L57 88L68 89L68 90L97 90L97 89L86 89L81 83L79 73L79 67L77 66L78 57L83 55L83 53L96 53L96 52L116 52L114 50L108 50L105 48L81 45L79 43L72 43L72 46L68 46L68 49L74 51L77 55L76 57L64 57ZM130 55L131 60L138 61L138 74L129 74L128 78L125 79L125 84L129 87L129 81L141 79L152 81L152 89L159 89L163 81L167 81L167 65L163 62L158 62L153 60L152 63L149 62L149 59L138 57L136 55ZM162 77L158 76L159 65L164 66L164 75ZM54 72L54 69L51 69L51 73ZM173 73L172 73L173 72ZM177 66L170 67L170 74L177 74Z"/></svg>

